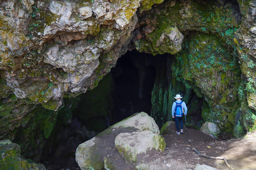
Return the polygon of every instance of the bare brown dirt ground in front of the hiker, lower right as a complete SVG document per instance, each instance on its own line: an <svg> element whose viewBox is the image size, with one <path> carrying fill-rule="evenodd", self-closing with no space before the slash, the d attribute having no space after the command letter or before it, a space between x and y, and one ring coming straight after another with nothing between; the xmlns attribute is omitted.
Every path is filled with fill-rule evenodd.
<svg viewBox="0 0 256 170"><path fill-rule="evenodd" d="M218 170L256 170L256 131L242 139L218 139L202 133L200 130L187 129L177 135L173 131L164 135L166 149L164 153L151 152L143 158L143 163L150 165L150 170L193 170L197 164L206 164ZM185 130L184 130L185 132ZM208 159L192 150L196 148L208 156L225 156L231 168L223 160ZM76 166L50 165L47 170L80 170ZM122 170L130 168L123 167Z"/></svg>

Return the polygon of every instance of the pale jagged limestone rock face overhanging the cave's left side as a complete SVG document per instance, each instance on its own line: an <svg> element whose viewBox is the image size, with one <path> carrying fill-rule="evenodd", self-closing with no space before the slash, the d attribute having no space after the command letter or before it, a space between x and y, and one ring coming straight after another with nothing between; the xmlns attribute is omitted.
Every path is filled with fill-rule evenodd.
<svg viewBox="0 0 256 170"><path fill-rule="evenodd" d="M137 10L162 1L2 1L0 138L13 140L38 104L57 111L98 85L127 51Z"/></svg>

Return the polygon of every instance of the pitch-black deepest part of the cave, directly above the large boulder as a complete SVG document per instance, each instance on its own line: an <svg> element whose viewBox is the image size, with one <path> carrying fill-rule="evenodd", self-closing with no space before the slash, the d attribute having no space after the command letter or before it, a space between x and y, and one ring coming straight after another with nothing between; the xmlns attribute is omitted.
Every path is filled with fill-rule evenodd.
<svg viewBox="0 0 256 170"><path fill-rule="evenodd" d="M150 115L151 91L155 82L155 68L146 65L153 55L128 51L111 68L112 122L116 123L130 115L144 111Z"/></svg>

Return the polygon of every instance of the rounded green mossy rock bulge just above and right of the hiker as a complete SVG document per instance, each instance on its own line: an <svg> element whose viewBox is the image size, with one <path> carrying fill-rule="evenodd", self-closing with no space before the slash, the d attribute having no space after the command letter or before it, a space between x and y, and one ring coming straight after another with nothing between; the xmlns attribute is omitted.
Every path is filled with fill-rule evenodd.
<svg viewBox="0 0 256 170"><path fill-rule="evenodd" d="M237 71L233 72L239 70L233 51L223 47L221 41L218 36L208 34L189 36L183 43L183 51L175 55L177 63L173 76L204 94L209 104L209 107L204 104L202 110L205 121L214 122L232 133L239 108L237 89L241 80ZM195 92L198 94L197 90Z"/></svg>

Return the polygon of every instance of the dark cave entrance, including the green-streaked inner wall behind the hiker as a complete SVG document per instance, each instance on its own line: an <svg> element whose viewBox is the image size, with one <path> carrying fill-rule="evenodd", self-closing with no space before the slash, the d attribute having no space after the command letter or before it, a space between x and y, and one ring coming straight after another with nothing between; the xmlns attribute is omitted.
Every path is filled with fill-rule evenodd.
<svg viewBox="0 0 256 170"><path fill-rule="evenodd" d="M204 100L173 77L171 54L151 55L128 51L121 56L99 85L82 94L73 119L78 118L90 131L107 127L144 111L159 126L172 119L172 103L179 93L188 107L189 127L200 128Z"/></svg>

